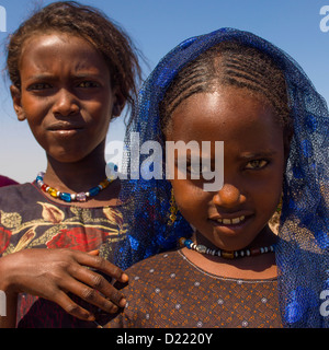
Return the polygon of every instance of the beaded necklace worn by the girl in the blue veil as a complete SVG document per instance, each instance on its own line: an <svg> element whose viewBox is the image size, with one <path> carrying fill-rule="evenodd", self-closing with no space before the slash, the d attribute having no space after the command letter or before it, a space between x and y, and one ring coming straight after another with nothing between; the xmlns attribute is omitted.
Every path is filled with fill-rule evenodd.
<svg viewBox="0 0 329 350"><path fill-rule="evenodd" d="M185 246L186 248L198 252L201 254L219 256L225 259L236 259L236 258L242 258L247 256L257 256L265 253L275 252L275 245L270 245L268 247L261 247L261 248L250 248L250 249L227 252L223 249L211 249L202 244L195 244L192 240L186 240L184 237L181 237L179 240L179 243L182 247Z"/></svg>

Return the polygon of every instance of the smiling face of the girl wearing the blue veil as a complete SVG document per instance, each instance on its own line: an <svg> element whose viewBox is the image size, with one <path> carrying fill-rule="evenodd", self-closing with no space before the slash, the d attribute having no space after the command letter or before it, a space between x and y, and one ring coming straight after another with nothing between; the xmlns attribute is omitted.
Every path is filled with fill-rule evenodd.
<svg viewBox="0 0 329 350"><path fill-rule="evenodd" d="M227 250L241 249L268 232L284 172L283 131L272 109L235 88L197 93L172 114L167 141L179 140L195 140L200 149L202 141L211 141L213 162L215 141L224 141L222 189L204 191L202 176L189 178L189 161L188 179L172 180L183 217L207 241Z"/></svg>

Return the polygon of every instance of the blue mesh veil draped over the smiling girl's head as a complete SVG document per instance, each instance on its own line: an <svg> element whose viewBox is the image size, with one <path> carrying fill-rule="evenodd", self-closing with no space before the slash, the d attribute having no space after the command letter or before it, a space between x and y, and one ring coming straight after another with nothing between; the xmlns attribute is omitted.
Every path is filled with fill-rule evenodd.
<svg viewBox="0 0 329 350"><path fill-rule="evenodd" d="M326 290L329 295L328 110L324 98L288 55L251 33L232 28L222 28L178 45L159 62L140 90L136 118L126 133L125 166L132 174L137 162L141 172L149 156L132 158L133 131L139 132L140 144L155 140L163 145L158 106L177 72L208 48L231 39L265 52L285 74L294 136L284 176L276 249L281 313L287 327L324 327L329 319L329 305L328 311L326 308ZM116 261L123 268L174 247L178 237L192 233L180 214L173 225L168 225L170 190L166 179L140 176L125 182L122 198L127 203L124 213L127 232Z"/></svg>

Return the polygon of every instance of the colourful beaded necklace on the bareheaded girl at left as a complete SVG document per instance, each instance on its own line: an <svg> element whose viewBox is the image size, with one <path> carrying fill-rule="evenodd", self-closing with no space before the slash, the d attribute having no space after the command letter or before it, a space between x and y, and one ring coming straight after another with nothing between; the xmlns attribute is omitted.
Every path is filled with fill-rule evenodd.
<svg viewBox="0 0 329 350"><path fill-rule="evenodd" d="M90 197L97 196L102 189L106 188L113 180L114 177L106 177L102 180L98 186L90 188L87 192L79 192L79 194L68 194L61 192L49 185L44 183L45 173L41 172L36 176L36 184L37 186L45 192L49 194L54 198L59 198L66 202L71 201L87 201Z"/></svg>

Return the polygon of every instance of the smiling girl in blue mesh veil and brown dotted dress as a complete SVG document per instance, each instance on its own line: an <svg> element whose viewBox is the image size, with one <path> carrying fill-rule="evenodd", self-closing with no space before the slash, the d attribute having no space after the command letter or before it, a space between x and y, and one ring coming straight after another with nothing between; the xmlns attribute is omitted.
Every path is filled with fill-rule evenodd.
<svg viewBox="0 0 329 350"><path fill-rule="evenodd" d="M121 265L181 247L126 270L127 306L106 327L328 325L328 110L288 55L232 28L190 38L145 82L132 131L163 150L209 141L212 170L224 141L224 180L205 190L188 152L185 178L175 153L172 179L125 186Z"/></svg>

